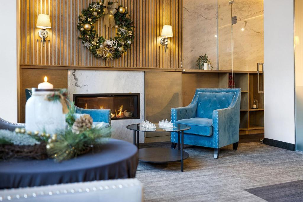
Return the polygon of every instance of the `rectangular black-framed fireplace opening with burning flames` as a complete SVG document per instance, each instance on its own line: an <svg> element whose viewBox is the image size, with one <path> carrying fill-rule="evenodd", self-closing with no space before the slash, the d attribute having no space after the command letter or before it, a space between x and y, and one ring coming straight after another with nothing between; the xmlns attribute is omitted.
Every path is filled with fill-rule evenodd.
<svg viewBox="0 0 303 202"><path fill-rule="evenodd" d="M75 105L84 109L110 109L112 119L140 118L139 93L73 94Z"/></svg>

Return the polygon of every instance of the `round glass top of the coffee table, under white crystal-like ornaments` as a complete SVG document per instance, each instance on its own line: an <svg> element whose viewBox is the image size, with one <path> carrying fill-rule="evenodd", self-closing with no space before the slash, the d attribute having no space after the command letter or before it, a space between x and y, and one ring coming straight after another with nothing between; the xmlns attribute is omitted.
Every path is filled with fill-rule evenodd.
<svg viewBox="0 0 303 202"><path fill-rule="evenodd" d="M156 128L146 128L141 124L128 125L126 126L126 128L133 131L143 131L143 132L178 132L178 131L186 131L191 128L190 126L183 124L173 124L173 127L160 127L159 123L154 123L154 124L156 124Z"/></svg>

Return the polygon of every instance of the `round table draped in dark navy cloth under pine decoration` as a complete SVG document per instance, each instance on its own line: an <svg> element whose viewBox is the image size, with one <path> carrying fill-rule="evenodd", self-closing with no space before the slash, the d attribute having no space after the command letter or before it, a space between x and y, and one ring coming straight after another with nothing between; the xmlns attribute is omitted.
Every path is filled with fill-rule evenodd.
<svg viewBox="0 0 303 202"><path fill-rule="evenodd" d="M100 149L61 163L53 159L0 161L0 189L135 177L138 149L109 139Z"/></svg>

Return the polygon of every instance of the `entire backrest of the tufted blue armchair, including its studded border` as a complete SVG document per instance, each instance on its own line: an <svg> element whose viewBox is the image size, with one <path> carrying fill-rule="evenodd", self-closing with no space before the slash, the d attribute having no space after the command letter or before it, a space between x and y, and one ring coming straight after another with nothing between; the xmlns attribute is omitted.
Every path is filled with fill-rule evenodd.
<svg viewBox="0 0 303 202"><path fill-rule="evenodd" d="M240 93L240 88L197 88L191 104L197 106L196 117L212 118L214 110L233 107Z"/></svg>

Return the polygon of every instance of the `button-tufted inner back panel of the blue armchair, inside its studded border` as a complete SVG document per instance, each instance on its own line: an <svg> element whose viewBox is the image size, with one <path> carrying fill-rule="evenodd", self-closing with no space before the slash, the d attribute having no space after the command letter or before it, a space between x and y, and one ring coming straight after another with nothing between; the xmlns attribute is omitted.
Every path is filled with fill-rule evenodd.
<svg viewBox="0 0 303 202"><path fill-rule="evenodd" d="M198 93L198 103L196 117L212 118L212 113L216 109L228 108L234 98L233 92L221 93Z"/></svg>

